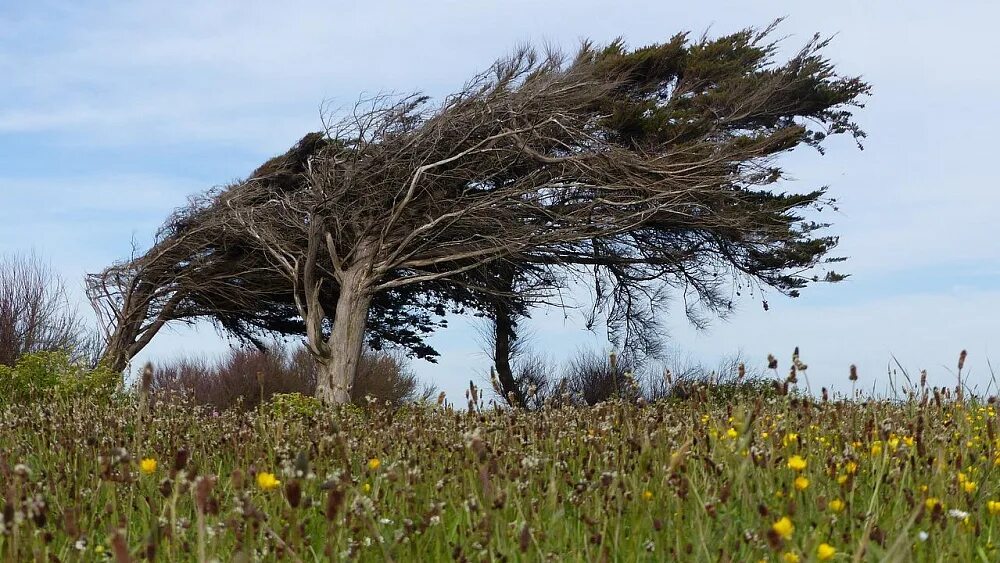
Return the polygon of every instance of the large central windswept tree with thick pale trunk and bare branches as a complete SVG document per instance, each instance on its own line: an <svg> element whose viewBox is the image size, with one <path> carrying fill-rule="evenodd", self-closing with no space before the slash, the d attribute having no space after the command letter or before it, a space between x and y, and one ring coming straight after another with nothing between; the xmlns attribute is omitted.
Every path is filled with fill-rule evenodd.
<svg viewBox="0 0 1000 563"><path fill-rule="evenodd" d="M571 61L524 49L439 106L359 105L329 128L300 189L231 190L233 221L294 288L324 367L318 394L347 400L376 295L501 259L619 267L633 284L670 273L709 296L704 276L723 268L787 291L807 283L786 272L836 240L796 210L823 191L760 188L781 177L775 155L860 135L843 107L867 86L837 77L820 42L773 65L762 37L585 46ZM319 299L330 285L334 309Z"/></svg>

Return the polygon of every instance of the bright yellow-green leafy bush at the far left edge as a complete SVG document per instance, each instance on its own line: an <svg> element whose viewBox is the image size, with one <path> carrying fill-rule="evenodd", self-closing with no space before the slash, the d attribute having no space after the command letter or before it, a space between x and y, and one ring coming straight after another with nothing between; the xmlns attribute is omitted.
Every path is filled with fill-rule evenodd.
<svg viewBox="0 0 1000 563"><path fill-rule="evenodd" d="M64 352L22 356L14 367L0 366L0 401L32 402L54 397L110 396L121 375L104 367L88 369Z"/></svg>

